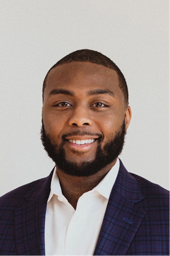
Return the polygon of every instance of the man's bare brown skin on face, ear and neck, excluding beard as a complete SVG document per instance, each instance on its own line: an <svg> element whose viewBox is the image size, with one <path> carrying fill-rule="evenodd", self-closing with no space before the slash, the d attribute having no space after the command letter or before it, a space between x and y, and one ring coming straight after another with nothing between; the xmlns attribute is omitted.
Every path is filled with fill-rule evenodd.
<svg viewBox="0 0 170 256"><path fill-rule="evenodd" d="M103 137L101 146L104 147L120 129L123 120L128 128L131 116L131 108L124 102L114 70L87 62L73 62L50 71L42 108L46 132L55 139L57 146L61 144L62 135L77 130L94 134L68 135L64 146L67 160L77 162L80 166L82 161L94 160L99 135ZM95 141L81 145L73 143L73 140L87 139ZM57 168L63 195L75 209L79 197L92 190L116 160L89 177L71 176Z"/></svg>

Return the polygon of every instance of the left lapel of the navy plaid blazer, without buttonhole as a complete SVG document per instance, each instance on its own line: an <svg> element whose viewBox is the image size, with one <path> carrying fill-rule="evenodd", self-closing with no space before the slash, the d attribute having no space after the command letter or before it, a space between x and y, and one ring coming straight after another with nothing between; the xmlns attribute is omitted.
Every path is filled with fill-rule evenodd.
<svg viewBox="0 0 170 256"><path fill-rule="evenodd" d="M16 244L19 255L45 256L45 216L50 192L50 175L25 195L26 203L15 211Z"/></svg>

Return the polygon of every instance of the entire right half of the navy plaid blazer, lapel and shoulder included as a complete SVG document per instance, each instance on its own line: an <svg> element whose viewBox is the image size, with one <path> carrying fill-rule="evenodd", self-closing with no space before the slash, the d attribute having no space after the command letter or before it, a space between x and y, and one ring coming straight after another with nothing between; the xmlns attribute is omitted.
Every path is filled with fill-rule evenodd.
<svg viewBox="0 0 170 256"><path fill-rule="evenodd" d="M170 192L122 162L94 256L170 256Z"/></svg>

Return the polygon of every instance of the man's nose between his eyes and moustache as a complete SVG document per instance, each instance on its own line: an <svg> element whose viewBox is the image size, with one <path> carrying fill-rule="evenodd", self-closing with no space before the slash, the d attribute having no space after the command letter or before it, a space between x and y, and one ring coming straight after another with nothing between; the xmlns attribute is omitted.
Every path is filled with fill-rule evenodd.
<svg viewBox="0 0 170 256"><path fill-rule="evenodd" d="M76 107L69 118L69 126L92 126L93 121L89 116L89 111L85 107Z"/></svg>

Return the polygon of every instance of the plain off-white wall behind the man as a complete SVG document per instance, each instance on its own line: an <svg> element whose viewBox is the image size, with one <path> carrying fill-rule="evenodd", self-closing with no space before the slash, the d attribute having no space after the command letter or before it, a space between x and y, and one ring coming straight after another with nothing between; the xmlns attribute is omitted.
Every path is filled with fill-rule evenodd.
<svg viewBox="0 0 170 256"><path fill-rule="evenodd" d="M48 69L78 49L122 70L132 122L120 158L170 189L169 0L0 0L0 195L45 177L40 141Z"/></svg>

